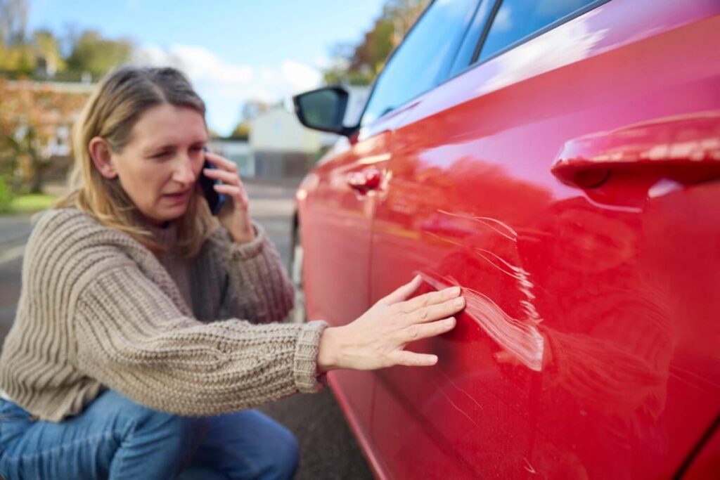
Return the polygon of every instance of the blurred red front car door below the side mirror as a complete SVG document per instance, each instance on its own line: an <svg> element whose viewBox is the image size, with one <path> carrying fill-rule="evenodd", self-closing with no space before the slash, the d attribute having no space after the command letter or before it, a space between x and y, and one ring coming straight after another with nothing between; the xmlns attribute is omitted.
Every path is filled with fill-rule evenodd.
<svg viewBox="0 0 720 480"><path fill-rule="evenodd" d="M310 319L346 325L370 307L372 196L379 168L390 158L392 131L402 111L341 138L303 180L298 196L304 248L305 307ZM328 373L343 411L362 442L369 438L374 376Z"/></svg>

